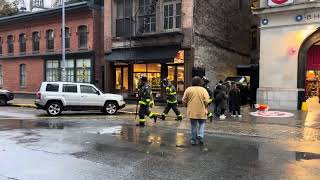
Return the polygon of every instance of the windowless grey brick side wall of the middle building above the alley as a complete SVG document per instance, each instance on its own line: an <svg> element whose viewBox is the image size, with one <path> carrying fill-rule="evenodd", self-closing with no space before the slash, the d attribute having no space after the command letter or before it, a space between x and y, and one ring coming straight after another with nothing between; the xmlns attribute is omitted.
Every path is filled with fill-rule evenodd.
<svg viewBox="0 0 320 180"><path fill-rule="evenodd" d="M216 83L251 61L251 1L194 1L194 66Z"/></svg>

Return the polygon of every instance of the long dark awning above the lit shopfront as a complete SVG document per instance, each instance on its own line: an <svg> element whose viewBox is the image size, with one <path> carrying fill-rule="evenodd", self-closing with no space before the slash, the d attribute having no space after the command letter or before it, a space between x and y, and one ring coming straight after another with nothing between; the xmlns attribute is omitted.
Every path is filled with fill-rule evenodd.
<svg viewBox="0 0 320 180"><path fill-rule="evenodd" d="M108 62L163 63L173 62L180 45L113 49L105 56Z"/></svg>

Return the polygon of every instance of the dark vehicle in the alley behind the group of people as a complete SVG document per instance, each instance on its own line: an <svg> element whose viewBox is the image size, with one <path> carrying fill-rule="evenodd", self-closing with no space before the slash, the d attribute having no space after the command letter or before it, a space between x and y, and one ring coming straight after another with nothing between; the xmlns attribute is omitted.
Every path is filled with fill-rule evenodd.
<svg viewBox="0 0 320 180"><path fill-rule="evenodd" d="M230 81L239 85L240 95L241 95L241 103L246 104L249 100L250 95L250 87L249 87L249 79L246 76L231 76L227 77L225 82Z"/></svg>

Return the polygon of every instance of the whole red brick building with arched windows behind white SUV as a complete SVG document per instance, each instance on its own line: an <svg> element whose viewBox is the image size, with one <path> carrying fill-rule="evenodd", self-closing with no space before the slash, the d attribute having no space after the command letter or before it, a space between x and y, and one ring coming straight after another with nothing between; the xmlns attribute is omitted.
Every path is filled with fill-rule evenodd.
<svg viewBox="0 0 320 180"><path fill-rule="evenodd" d="M104 86L103 13L91 2L66 6L67 80ZM61 8L0 18L0 86L34 93L61 80Z"/></svg>

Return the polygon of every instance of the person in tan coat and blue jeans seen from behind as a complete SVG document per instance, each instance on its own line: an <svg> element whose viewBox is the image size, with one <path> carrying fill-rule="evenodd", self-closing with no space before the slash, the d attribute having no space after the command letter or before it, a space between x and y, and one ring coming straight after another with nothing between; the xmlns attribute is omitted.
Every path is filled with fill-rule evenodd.
<svg viewBox="0 0 320 180"><path fill-rule="evenodd" d="M192 79L192 86L188 87L183 95L182 101L187 106L187 116L191 121L191 140L192 145L204 143L204 128L208 114L209 94L202 87L203 82L199 76Z"/></svg>

